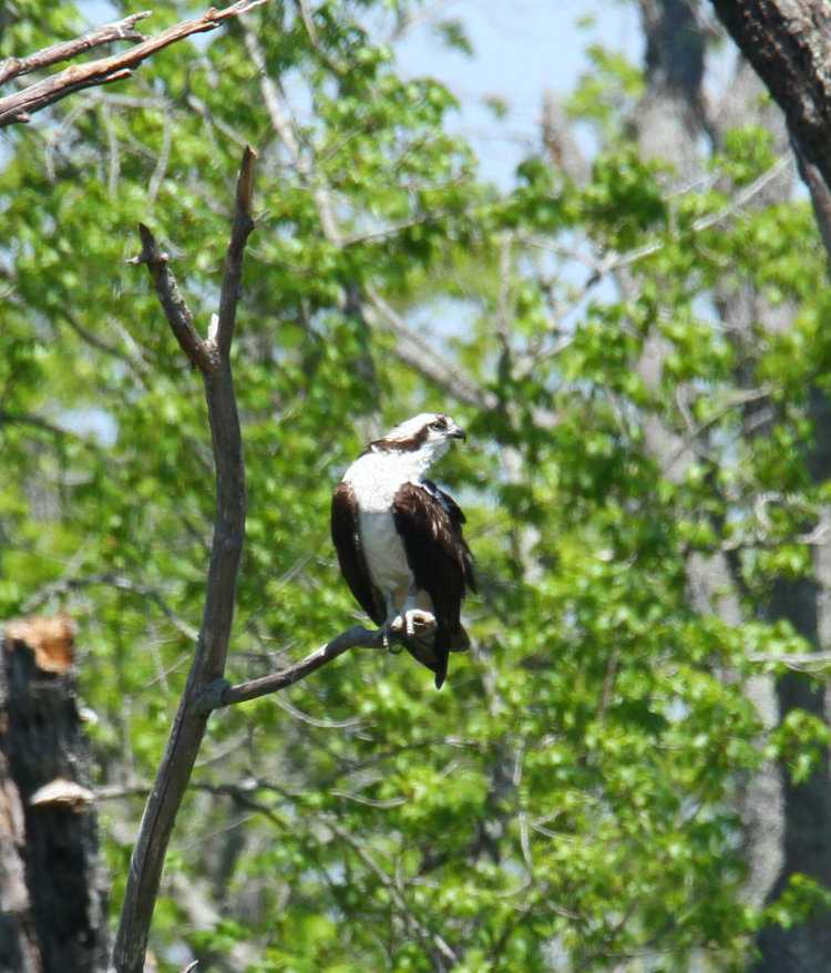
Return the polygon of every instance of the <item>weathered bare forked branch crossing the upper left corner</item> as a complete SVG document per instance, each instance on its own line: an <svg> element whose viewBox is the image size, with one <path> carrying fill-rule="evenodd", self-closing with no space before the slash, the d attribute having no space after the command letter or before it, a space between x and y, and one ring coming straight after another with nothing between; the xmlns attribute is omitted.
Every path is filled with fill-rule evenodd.
<svg viewBox="0 0 831 973"><path fill-rule="evenodd" d="M54 64L59 61L65 61L78 57L91 48L114 40L138 41L134 48L113 54L110 58L101 58L98 61L90 61L85 64L73 64L63 71L37 81L28 88L0 98L0 127L11 125L16 122L30 121L34 112L39 112L50 104L60 101L74 91L81 91L85 88L95 88L102 84L110 84L112 81L119 81L129 78L133 68L137 68L142 61L145 61L156 51L176 43L194 33L204 33L205 31L216 30L222 27L223 22L230 17L238 17L255 7L259 7L268 0L237 0L225 10L214 10L213 8L202 17L195 20L185 20L173 27L163 30L161 33L152 38L143 38L135 30L135 23L148 13L137 13L116 23L106 24L98 30L66 41L63 44L55 44L47 48L28 58L11 58L8 61L0 62L0 82L21 74L28 74L39 68Z"/></svg>

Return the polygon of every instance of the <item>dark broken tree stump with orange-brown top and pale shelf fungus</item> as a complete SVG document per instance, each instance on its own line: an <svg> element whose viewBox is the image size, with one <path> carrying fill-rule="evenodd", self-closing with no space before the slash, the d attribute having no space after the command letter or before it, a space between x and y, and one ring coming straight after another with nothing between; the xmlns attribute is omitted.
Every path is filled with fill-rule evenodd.
<svg viewBox="0 0 831 973"><path fill-rule="evenodd" d="M66 616L9 623L0 649L0 970L107 969L106 877Z"/></svg>

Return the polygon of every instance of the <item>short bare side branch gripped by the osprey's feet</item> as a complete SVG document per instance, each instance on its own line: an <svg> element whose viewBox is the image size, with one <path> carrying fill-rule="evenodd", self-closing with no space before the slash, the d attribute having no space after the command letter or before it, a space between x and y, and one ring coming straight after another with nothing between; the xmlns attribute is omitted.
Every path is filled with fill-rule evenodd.
<svg viewBox="0 0 831 973"><path fill-rule="evenodd" d="M429 635L435 629L435 619L427 612L420 613L416 626L420 636ZM403 644L403 621L399 617L392 623L389 634L390 645ZM310 652L305 658L294 663L285 669L263 676L259 679L250 679L232 686L225 679L218 679L208 686L205 693L194 701L195 713L209 713L223 706L233 706L235 703L246 703L260 696L268 696L286 689L295 683L305 679L306 676L330 663L334 658L348 652L350 648L383 648L383 634L380 628L365 628L356 625L346 632L341 632L331 642L321 645Z"/></svg>

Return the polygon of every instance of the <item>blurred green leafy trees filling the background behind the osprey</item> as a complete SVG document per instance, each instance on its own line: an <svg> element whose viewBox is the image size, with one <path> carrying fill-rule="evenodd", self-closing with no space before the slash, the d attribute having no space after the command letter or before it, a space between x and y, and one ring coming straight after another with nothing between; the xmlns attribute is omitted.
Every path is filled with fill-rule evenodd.
<svg viewBox="0 0 831 973"><path fill-rule="evenodd" d="M0 55L79 7L9 7ZM212 518L135 224L206 318L257 148L233 678L352 624L328 506L366 440L422 409L469 432L437 472L482 583L470 657L437 694L355 652L212 718L162 970L825 969L827 258L714 14L635 7L643 63L594 45L567 96L541 79L506 188L453 93L399 71L409 2L271 2L2 136L0 605L81 623L114 908Z"/></svg>

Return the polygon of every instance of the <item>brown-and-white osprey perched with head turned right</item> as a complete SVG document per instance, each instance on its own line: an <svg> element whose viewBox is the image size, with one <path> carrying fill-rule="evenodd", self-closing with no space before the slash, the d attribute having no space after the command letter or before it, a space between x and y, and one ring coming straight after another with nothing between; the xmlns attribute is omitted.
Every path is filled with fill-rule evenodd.
<svg viewBox="0 0 831 973"><path fill-rule="evenodd" d="M441 412L401 422L349 467L331 505L331 536L352 594L381 626L384 644L403 618L404 646L435 673L437 688L448 653L470 647L459 615L466 591L476 590L464 514L427 479L454 439L465 439L464 431ZM418 610L432 613L434 634L416 634Z"/></svg>

